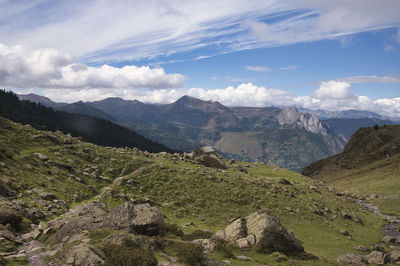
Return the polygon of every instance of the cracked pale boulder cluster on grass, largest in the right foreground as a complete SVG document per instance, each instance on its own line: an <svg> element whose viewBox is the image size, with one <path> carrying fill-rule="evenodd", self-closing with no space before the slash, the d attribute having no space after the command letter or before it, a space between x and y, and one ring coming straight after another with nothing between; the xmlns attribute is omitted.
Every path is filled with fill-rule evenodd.
<svg viewBox="0 0 400 266"><path fill-rule="evenodd" d="M280 219L267 211L255 212L246 218L233 221L213 238L235 242L239 247L257 246L262 250L272 249L282 252L303 251L293 232L288 231Z"/></svg>

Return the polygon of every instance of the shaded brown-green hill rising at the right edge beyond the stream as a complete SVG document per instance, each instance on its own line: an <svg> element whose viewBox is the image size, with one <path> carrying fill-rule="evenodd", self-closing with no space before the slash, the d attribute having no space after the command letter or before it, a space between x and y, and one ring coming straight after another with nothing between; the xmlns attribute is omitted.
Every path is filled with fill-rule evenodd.
<svg viewBox="0 0 400 266"><path fill-rule="evenodd" d="M342 153L302 173L339 189L376 194L383 211L400 215L400 125L361 128Z"/></svg>

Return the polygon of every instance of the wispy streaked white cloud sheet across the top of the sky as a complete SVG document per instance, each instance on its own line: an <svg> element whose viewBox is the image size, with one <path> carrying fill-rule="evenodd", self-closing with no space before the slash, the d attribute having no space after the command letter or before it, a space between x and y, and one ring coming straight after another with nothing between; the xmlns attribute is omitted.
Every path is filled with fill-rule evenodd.
<svg viewBox="0 0 400 266"><path fill-rule="evenodd" d="M0 40L53 47L85 62L204 47L209 54L199 58L207 58L398 27L399 10L398 0L5 1L0 2Z"/></svg>

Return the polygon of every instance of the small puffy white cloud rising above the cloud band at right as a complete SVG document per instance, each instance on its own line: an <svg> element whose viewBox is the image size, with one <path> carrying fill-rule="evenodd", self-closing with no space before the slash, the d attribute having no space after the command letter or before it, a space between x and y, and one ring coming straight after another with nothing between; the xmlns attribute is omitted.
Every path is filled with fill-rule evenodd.
<svg viewBox="0 0 400 266"><path fill-rule="evenodd" d="M314 94L319 100L354 99L356 96L349 90L350 84L335 80L323 81Z"/></svg>

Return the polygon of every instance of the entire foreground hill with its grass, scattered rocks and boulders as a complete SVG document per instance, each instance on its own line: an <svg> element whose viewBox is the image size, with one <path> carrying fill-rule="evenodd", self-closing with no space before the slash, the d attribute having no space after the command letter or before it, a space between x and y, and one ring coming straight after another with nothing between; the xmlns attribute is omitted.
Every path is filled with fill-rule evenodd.
<svg viewBox="0 0 400 266"><path fill-rule="evenodd" d="M383 220L375 214L272 165L223 160L226 169L215 169L181 154L96 146L4 118L0 151L4 263L118 265L129 258L136 265L193 265L208 258L232 265L332 265L354 246L382 238ZM264 228L264 220L249 222L262 217L274 236L265 246L251 235L218 242L218 235L242 235L243 222L249 232ZM285 250L294 236L305 252ZM194 245L195 239L206 240ZM239 248L242 242L252 247Z"/></svg>

